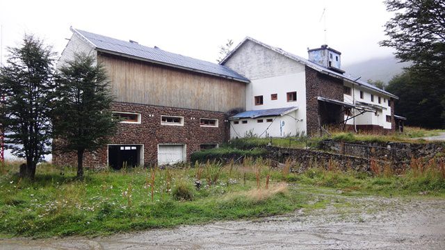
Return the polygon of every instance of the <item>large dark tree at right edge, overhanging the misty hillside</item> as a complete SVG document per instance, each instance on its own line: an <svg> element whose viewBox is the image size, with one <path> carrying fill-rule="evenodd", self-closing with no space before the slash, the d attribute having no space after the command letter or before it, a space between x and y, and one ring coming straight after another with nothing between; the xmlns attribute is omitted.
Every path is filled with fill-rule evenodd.
<svg viewBox="0 0 445 250"><path fill-rule="evenodd" d="M445 1L387 0L385 4L387 10L395 12L395 16L385 25L389 39L380 42L380 45L394 47L396 58L402 62L412 62L412 66L407 68L408 72L395 78L387 90L407 91L400 93L398 108L406 109L407 114L410 114L409 110L417 111L416 115L407 115L407 124L443 127ZM404 102L406 105L402 106Z"/></svg>

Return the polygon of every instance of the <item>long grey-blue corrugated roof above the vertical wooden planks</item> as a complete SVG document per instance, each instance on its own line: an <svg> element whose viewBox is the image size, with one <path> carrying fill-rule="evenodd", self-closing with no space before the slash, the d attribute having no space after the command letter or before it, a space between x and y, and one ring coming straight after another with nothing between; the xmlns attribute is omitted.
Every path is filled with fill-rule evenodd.
<svg viewBox="0 0 445 250"><path fill-rule="evenodd" d="M100 51L111 52L118 55L127 55L133 58L140 58L148 60L152 63L159 63L172 67L179 67L194 72L201 72L204 74L211 74L213 76L220 76L224 78L231 78L236 81L249 82L248 78L241 76L232 69L219 65L217 63L210 63L204 60L182 56L177 53L163 51L159 48L146 47L133 42L126 42L115 38L108 38L104 35L97 35L88 31L81 31L71 28L73 33L81 36L81 38L90 42L90 44Z"/></svg>

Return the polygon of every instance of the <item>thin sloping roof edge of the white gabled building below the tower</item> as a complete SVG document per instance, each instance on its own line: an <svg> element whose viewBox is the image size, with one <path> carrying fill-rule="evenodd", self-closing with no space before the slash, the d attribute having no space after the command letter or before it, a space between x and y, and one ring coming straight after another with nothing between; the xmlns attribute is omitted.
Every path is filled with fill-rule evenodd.
<svg viewBox="0 0 445 250"><path fill-rule="evenodd" d="M391 93L389 93L389 92L387 92L385 90L382 90L380 88L377 88L377 87L375 87L374 85L372 85L370 83L366 83L364 81L359 81L357 79L357 77L353 77L353 76L350 76L348 74L340 74L338 72L334 72L333 70L327 69L327 68L325 68L325 67L323 67L321 65L317 65L316 63L312 63L311 61L309 61L309 60L307 60L305 58L302 58L301 56L294 55L293 53L289 53L289 52L284 51L284 50L282 50L280 48L270 46L268 44L265 44L264 42L260 42L259 40L255 40L255 39L250 38L250 37L244 38L244 40L242 42L240 42L235 47L235 49L230 51L230 53L227 54L227 56L225 56L225 58L223 58L223 60L221 60L220 64L223 65L235 53L235 51L238 50L238 48L241 47L241 45L244 44L244 42L246 42L248 40L250 40L252 42L255 42L257 44L260 44L261 46L266 47L266 48L268 48L268 49L270 49L272 51L280 53L283 56L286 56L288 58L296 60L298 63L302 63L303 65L306 65L307 67L315 69L316 71L321 72L322 74L327 74L329 76L333 76L333 77L336 77L336 78L341 78L341 79L346 80L346 81L348 81L350 83L353 83L355 85L359 85L359 86L362 85L362 86L364 86L364 88L367 88L369 90L373 90L375 92L380 92L382 94L386 94L389 97L394 97L395 99L398 99L398 97L396 95L391 94Z"/></svg>

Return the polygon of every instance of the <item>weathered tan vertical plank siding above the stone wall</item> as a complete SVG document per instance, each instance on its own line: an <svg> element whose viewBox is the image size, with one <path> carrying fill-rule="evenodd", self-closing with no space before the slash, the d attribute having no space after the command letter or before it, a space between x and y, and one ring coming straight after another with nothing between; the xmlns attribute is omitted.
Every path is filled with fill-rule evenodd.
<svg viewBox="0 0 445 250"><path fill-rule="evenodd" d="M246 83L99 53L115 101L227 112L245 110Z"/></svg>

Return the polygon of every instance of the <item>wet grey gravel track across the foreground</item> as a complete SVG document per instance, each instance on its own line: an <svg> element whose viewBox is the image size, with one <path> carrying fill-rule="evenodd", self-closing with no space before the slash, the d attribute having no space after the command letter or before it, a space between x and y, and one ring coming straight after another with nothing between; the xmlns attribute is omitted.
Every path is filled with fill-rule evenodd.
<svg viewBox="0 0 445 250"><path fill-rule="evenodd" d="M283 216L108 238L0 240L0 249L445 249L445 199L327 199L327 208Z"/></svg>

